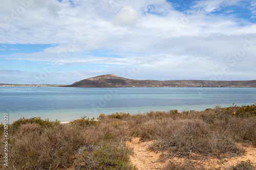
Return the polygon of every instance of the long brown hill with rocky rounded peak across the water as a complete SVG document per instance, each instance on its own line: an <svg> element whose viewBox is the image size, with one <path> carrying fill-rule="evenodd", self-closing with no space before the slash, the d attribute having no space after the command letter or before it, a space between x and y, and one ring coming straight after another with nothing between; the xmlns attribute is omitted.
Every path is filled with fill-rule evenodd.
<svg viewBox="0 0 256 170"><path fill-rule="evenodd" d="M256 87L256 80L209 81L209 80L133 80L115 75L102 75L84 79L65 87Z"/></svg>

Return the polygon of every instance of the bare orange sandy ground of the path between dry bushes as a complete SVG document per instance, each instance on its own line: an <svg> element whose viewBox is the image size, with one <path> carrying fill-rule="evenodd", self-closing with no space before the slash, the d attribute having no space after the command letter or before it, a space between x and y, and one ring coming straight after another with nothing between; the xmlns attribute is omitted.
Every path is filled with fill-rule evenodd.
<svg viewBox="0 0 256 170"><path fill-rule="evenodd" d="M162 169L167 165L169 161L183 162L184 158L174 158L166 160L165 162L158 162L161 153L149 151L148 147L152 144L153 141L140 142L139 137L133 137L132 141L126 141L126 144L134 149L134 156L130 158L131 162L136 165L139 170L149 170L149 169ZM250 160L253 163L256 163L256 148L252 146L242 146L246 153L244 156L235 157L235 158L226 158L224 160L219 159L208 159L207 162L204 162L204 167L221 167L225 168L232 166L241 161Z"/></svg>

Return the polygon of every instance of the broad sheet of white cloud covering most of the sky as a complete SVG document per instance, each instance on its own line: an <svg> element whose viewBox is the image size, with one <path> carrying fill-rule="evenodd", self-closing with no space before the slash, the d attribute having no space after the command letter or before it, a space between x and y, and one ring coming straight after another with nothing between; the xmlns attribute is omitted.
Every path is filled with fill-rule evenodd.
<svg viewBox="0 0 256 170"><path fill-rule="evenodd" d="M118 74L147 55L150 60L141 66L137 78L156 79L165 72L162 79L169 73L176 79L209 79L220 69L217 66L230 65L227 57L243 47L246 39L255 37L255 23L234 15L212 14L238 2L197 1L190 8L191 15L186 15L164 0L76 0L73 4L46 0L31 2L27 8L19 1L5 1L0 6L0 43L56 46L32 54L2 54L0 58L63 66L104 64L106 68L88 75L73 72L80 78L111 71ZM24 12L18 13L22 7ZM251 7L255 11L254 1ZM12 17L15 13L18 15ZM6 17L11 19L9 27ZM63 53L67 56L60 55ZM254 67L244 69L256 62L253 54L255 48L237 62L236 69L253 72ZM115 67L109 67L112 65ZM231 67L226 79L234 77L236 69ZM177 73L180 78L175 77ZM66 72L67 77L71 74Z"/></svg>

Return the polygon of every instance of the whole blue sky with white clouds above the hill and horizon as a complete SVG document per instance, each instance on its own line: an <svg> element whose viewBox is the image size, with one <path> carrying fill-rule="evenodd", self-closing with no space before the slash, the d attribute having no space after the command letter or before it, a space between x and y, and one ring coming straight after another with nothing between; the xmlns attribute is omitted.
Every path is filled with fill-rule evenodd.
<svg viewBox="0 0 256 170"><path fill-rule="evenodd" d="M0 2L0 83L256 80L255 0Z"/></svg>

